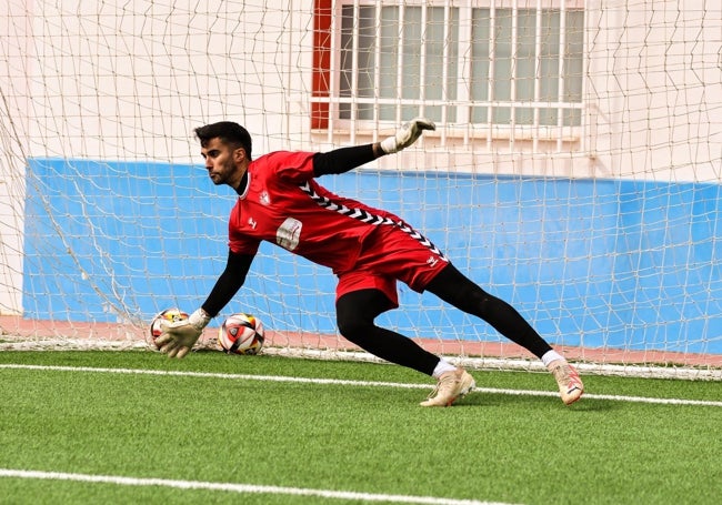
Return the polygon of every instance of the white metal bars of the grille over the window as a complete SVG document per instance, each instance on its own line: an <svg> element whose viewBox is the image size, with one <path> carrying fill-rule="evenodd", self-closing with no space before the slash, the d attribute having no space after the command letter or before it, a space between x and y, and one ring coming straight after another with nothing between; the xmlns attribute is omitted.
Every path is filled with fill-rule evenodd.
<svg viewBox="0 0 722 505"><path fill-rule="evenodd" d="M338 1L334 2L334 9L337 9L337 12L340 12L340 9L342 8L343 4L349 4L350 2L342 2ZM532 103L528 102L520 102L519 98L519 92L520 92L520 67L518 63L519 60L519 54L520 54L520 48L519 48L519 41L520 41L520 19L519 14L520 11L522 11L522 8L520 8L519 2L512 2L511 3L511 48L510 48L510 54L511 54L511 69L510 69L510 80L509 80L509 93L510 93L510 99L507 101L497 101L497 69L494 65L495 61L495 52L498 50L498 33L497 33L497 27L499 23L498 20L498 13L499 13L499 8L497 7L497 2L490 1L489 2L489 49L488 49L488 58L489 58L489 69L488 69L488 82L487 82L487 101L485 103L481 102L475 102L472 101L471 99L471 88L470 88L470 82L472 81L472 74L473 74L473 68L472 68L472 60L469 57L469 48L471 47L471 43L473 42L471 39L472 34L472 29L473 27L471 26L471 20L473 19L473 9L477 7L474 2L469 1L464 2L463 6L460 7L454 7L454 1L452 0L445 0L443 3L443 12L444 12L444 26L443 26L443 51L442 51L442 65L441 65L441 79L442 79L442 89L441 89L441 99L440 100L432 100L432 99L427 99L428 95L428 83L427 79L429 77L428 74L428 69L427 69L427 62L428 62L428 48L429 48L429 31L428 31L428 22L430 19L430 11L428 10L429 3L423 2L423 3L413 3L413 7L420 7L420 18L421 18L421 40L420 40L420 61L419 61L419 90L418 90L418 95L415 99L404 99L403 98L403 85L404 85L404 78L408 78L408 75L404 75L403 71L397 72L397 78L395 78L395 91L394 91L394 97L383 97L381 94L381 82L382 82L382 73L380 71L379 64L381 61L381 48L382 48L382 9L384 7L390 7L388 2L384 2L383 0L375 0L372 6L374 8L374 26L375 26L375 31L373 32L373 62L374 62L374 68L370 69L372 72L371 81L373 82L374 90L369 93L368 97L361 97L360 90L359 90L359 64L360 64L360 54L359 51L361 49L371 49L371 48L360 48L360 31L361 31L361 20L360 20L360 14L361 14L361 3L363 3L363 0L353 0L353 22L352 22L352 30L351 30L351 41L348 41L351 43L351 77L350 77L350 82L347 82L347 85L350 85L349 90L349 97L344 98L341 97L338 92L333 93L328 101L330 102L329 107L329 131L328 131L328 139L330 142L333 140L333 132L334 132L334 127L335 123L339 120L339 111L340 107L342 104L348 104L350 109L350 118L349 118L349 133L351 135L351 141L355 141L357 137L357 130L358 130L358 123L361 121L359 117L359 111L360 111L360 104L367 104L371 105L369 108L369 111L372 112L372 119L374 125L379 125L381 122L382 118L382 111L384 108L388 105L392 105L389 108L389 110L392 110L395 115L395 123L400 123L404 118L402 117L403 110L407 108L407 105L413 105L418 107L418 113L423 114L425 109L428 107L439 107L440 113L441 113L441 145L445 145L447 140L448 140L448 133L449 133L449 118L452 111L452 108L455 108L455 119L453 120L454 123L461 124L462 125L462 131L463 132L463 144L468 145L472 139L473 134L472 132L474 131L474 125L471 124L471 119L472 119L472 112L474 108L485 108L487 109L487 119L485 119L485 125L487 125L487 132L485 132L485 143L488 149L491 150L492 144L494 143L494 138L495 133L500 131L500 129L509 131L509 149L513 151L517 141L519 140L520 131L517 130L518 125L518 118L517 118L517 112L520 108L530 108L532 110L532 125L531 130L533 131L532 134L532 142L533 142L533 150L538 151L539 145L542 139L542 133L544 131L550 131L552 125L544 127L542 124L542 111L548 111L550 110L550 107L555 107L556 109L556 124L555 124L555 130L556 134L555 137L555 148L556 151L561 151L563 148L564 143L564 131L566 130L566 127L572 128L573 124L569 121L565 120L565 111L574 111L574 110L581 110L583 109L582 103L565 103L565 88L568 84L568 75L566 73L569 72L569 64L566 61L566 55L565 55L565 44L568 40L568 33L566 33L566 27L568 27L568 19L566 16L569 13L568 9L568 3L566 1L562 0L559 2L559 16L560 16L560 37L559 37L559 53L556 55L558 58L558 71L556 71L556 103L552 104L549 103L549 101L542 102L542 88L544 85L544 79L549 79L550 77L544 77L542 75L543 72L543 65L542 65L542 48L544 44L544 22L545 22L545 9L542 7L544 6L544 0L535 0L535 20L534 20L534 27L535 27L535 33L534 33L534 68L533 68L533 99ZM404 0L398 0L395 3L395 8L398 9L398 34L399 34L399 47L397 51L397 68L398 69L403 69L404 60L408 58L408 54L405 54L403 50L403 44L404 44L404 36L405 36L405 13L407 13L407 7L408 2ZM370 3L364 3L364 4L370 4ZM459 34L458 34L458 40L457 43L459 44L459 50L455 57L455 60L452 62L452 48L451 43L453 43L453 24L452 24L452 9L454 9L453 13L454 17L458 17L460 21L459 23ZM339 62L339 54L341 48L341 40L342 40L342 33L339 29L340 27L340 16L333 16L331 19L331 30L334 33L334 39L333 39L333 46L337 48L337 50L332 50L330 54L330 63L331 63L331 69L339 69L338 62ZM549 28L549 27L548 27ZM434 41L435 42L435 41ZM457 64L457 84L455 84L455 92L457 92L457 99L451 99L451 93L450 93L450 82L449 82L449 77L451 75L451 65L452 63ZM584 63L585 65L588 62ZM331 79L332 79L332 89L339 90L339 80L340 75L338 71L331 72ZM584 87L584 83L582 82L582 88ZM582 89L583 92L583 89ZM414 93L415 94L415 93ZM523 97L522 97L523 98ZM315 100L315 101L325 101L323 99ZM499 110L505 109L509 113L509 124L507 127L502 124L498 124L495 122L495 117L498 115ZM545 114L548 115L548 114ZM569 123L569 124L566 124ZM582 121L582 128L583 128L583 121ZM527 128L527 127L522 127ZM347 129L347 128L344 128ZM374 138L378 135L378 128L374 128Z"/></svg>

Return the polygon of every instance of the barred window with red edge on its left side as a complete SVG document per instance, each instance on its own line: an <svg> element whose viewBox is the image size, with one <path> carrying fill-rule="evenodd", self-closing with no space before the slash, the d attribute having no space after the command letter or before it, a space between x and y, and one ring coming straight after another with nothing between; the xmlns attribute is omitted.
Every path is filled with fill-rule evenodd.
<svg viewBox="0 0 722 505"><path fill-rule="evenodd" d="M579 0L317 1L317 29L322 3L314 128L415 115L449 128L581 124Z"/></svg>

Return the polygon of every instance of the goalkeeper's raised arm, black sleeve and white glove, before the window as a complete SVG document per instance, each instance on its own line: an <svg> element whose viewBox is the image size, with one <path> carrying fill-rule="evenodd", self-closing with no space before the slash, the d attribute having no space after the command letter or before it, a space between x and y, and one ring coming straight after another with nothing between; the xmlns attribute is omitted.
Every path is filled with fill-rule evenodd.
<svg viewBox="0 0 722 505"><path fill-rule="evenodd" d="M435 129L428 119L417 118L401 127L395 135L381 142L317 153L313 155L313 175L348 172L384 154L399 152L414 143L424 130Z"/></svg>

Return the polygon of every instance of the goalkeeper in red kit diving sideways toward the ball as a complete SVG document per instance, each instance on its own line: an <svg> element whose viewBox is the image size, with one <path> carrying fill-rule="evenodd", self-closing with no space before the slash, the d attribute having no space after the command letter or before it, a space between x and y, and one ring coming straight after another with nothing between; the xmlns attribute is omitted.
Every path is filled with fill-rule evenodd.
<svg viewBox="0 0 722 505"><path fill-rule="evenodd" d="M395 153L434 129L419 118L381 142L325 153L272 152L255 160L251 137L240 124L222 121L195 129L208 175L217 185L233 188L238 201L230 215L225 269L200 309L163 329L157 340L161 352L170 357L190 352L203 327L241 289L259 244L268 241L332 269L341 335L382 360L437 380L421 405L449 406L475 383L462 367L374 323L379 314L399 306L397 281L481 317L541 358L565 404L579 400L584 387L574 367L517 310L470 281L399 216L335 195L315 181Z"/></svg>

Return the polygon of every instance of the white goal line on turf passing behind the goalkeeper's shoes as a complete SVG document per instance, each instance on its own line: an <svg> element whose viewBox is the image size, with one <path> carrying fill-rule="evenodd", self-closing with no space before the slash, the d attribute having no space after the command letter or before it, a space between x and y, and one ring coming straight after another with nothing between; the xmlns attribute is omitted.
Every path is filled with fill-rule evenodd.
<svg viewBox="0 0 722 505"><path fill-rule="evenodd" d="M250 375L250 374L224 374L211 372L183 372L172 370L144 370L144 368L101 368L93 366L59 366L59 365L21 365L13 363L0 363L1 368L14 370L49 370L57 372L94 372L94 373L116 373L116 374L138 374L138 375L168 375L181 377L202 377L202 378L228 378L241 381L265 381L265 382L288 382L303 384L332 384L349 386L377 386L377 387L397 387L407 390L428 390L432 387L429 384L409 384L397 382L379 381L350 381L344 378L309 378L309 377L290 377L283 375ZM475 387L472 393L504 394L512 396L559 396L556 392L534 391L534 390L503 390L494 387ZM685 400L685 398L654 398L649 396L620 396L606 394L584 394L586 400L611 400L615 402L631 403L652 403L660 405L698 405L722 407L722 402L709 400Z"/></svg>

